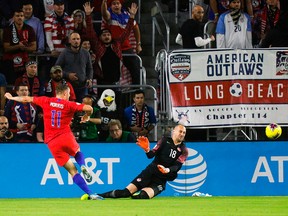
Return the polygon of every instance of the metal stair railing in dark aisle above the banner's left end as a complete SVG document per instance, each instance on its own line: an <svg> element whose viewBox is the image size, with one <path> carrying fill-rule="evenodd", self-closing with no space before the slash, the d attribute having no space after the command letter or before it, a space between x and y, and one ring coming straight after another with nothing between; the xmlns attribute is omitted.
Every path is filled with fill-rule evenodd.
<svg viewBox="0 0 288 216"><path fill-rule="evenodd" d="M166 43L163 40L163 45L167 51L170 49L170 27L163 16L162 9L157 1L155 1L155 6L151 9L151 16L152 16L152 56L155 56L155 28L159 35L164 39L164 34L160 28L159 22L157 21L156 16L160 15L161 20L164 22L165 29L166 29Z"/></svg>

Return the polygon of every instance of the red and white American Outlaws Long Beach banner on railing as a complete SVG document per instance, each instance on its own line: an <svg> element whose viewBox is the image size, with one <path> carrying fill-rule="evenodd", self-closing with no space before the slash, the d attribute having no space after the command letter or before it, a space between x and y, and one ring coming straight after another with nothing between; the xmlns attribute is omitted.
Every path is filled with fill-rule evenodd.
<svg viewBox="0 0 288 216"><path fill-rule="evenodd" d="M288 125L287 50L178 50L168 64L176 122L195 128Z"/></svg>

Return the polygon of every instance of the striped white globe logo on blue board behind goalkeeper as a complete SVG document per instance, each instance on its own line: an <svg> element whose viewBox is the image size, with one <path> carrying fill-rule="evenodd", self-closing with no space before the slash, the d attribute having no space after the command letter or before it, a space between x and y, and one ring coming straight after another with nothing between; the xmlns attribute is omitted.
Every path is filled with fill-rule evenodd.
<svg viewBox="0 0 288 216"><path fill-rule="evenodd" d="M207 177L207 164L203 156L194 149L188 148L188 158L178 172L178 177L168 182L174 191L189 194L198 190Z"/></svg>

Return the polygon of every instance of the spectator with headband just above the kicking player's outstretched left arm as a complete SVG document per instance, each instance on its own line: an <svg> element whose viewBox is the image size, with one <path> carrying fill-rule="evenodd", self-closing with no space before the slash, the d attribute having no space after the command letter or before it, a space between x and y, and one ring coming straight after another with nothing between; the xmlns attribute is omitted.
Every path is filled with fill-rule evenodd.
<svg viewBox="0 0 288 216"><path fill-rule="evenodd" d="M14 86L22 83L28 86L31 96L44 95L44 86L37 76L37 62L30 60L26 63L25 68L26 72L16 79Z"/></svg>

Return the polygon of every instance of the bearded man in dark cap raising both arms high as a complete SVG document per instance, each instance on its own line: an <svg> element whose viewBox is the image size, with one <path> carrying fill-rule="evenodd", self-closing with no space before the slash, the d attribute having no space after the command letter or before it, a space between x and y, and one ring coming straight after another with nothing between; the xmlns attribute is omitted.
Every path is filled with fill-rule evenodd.
<svg viewBox="0 0 288 216"><path fill-rule="evenodd" d="M130 8L129 21L125 31L118 38L113 39L109 29L102 29L98 38L92 28L91 16L88 8L85 9L87 15L87 30L88 35L92 36L92 41L95 42L93 50L96 51L95 73L98 85L115 85L119 84L121 74L121 61L124 60L121 53L121 44L128 38L129 32L133 28L133 19L137 13L136 4L132 4ZM90 33L90 31L93 33ZM98 90L100 95L102 90Z"/></svg>

